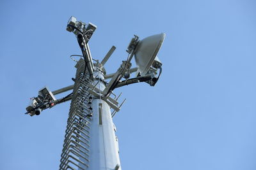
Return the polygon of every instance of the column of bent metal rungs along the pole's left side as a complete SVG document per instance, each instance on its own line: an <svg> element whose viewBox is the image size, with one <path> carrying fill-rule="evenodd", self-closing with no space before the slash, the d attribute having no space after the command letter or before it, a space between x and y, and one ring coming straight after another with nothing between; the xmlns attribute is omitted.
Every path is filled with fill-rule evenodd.
<svg viewBox="0 0 256 170"><path fill-rule="evenodd" d="M83 169L90 161L90 106L92 96L88 92L92 80L84 73L84 62L77 62L76 80L73 90L67 130L61 153L60 169ZM83 167L82 167L83 165Z"/></svg>

